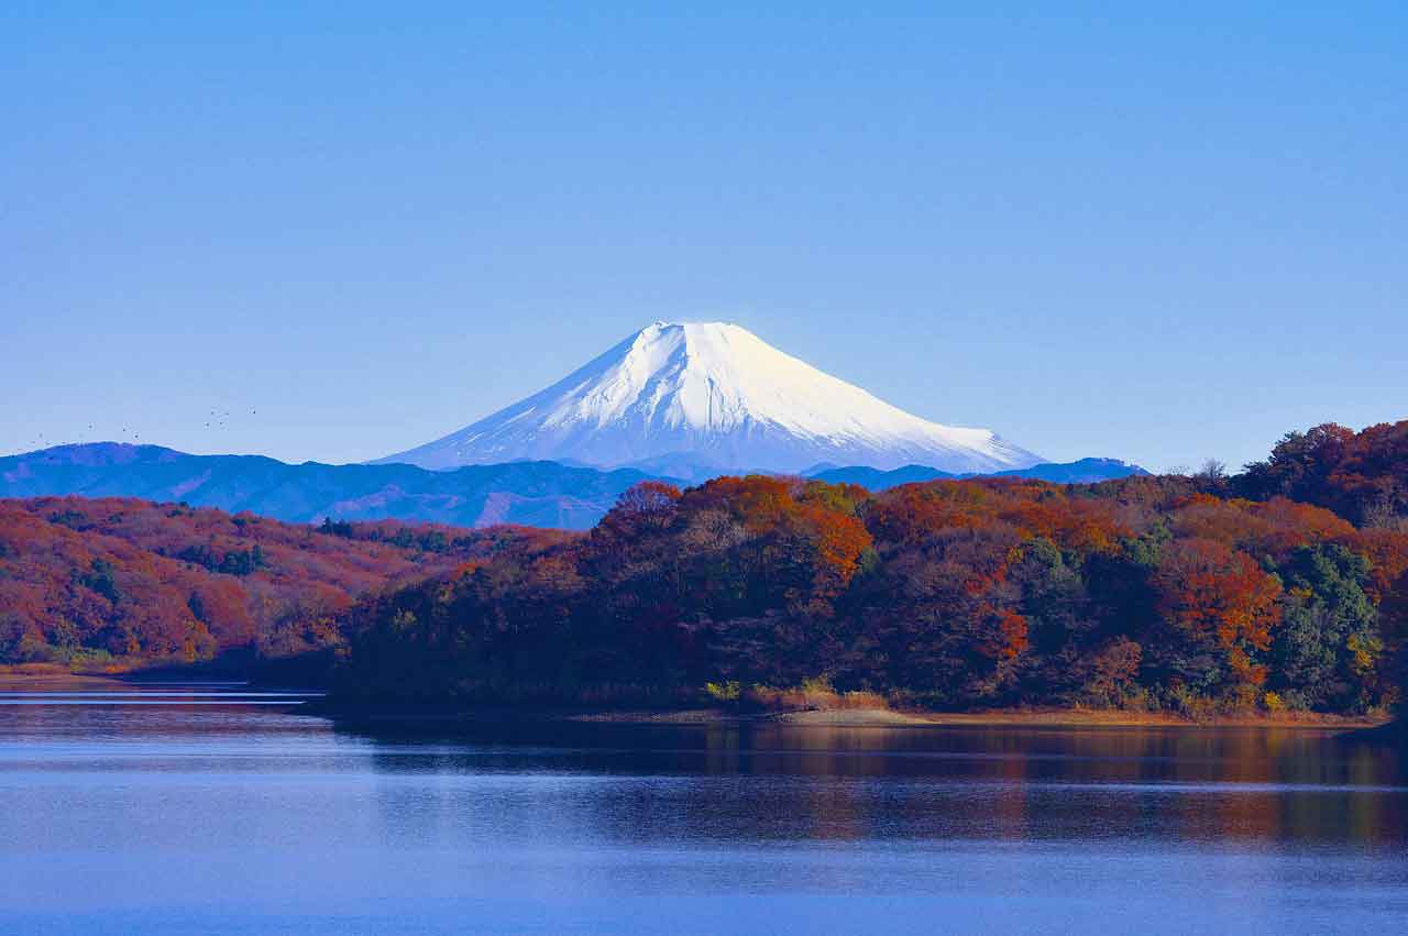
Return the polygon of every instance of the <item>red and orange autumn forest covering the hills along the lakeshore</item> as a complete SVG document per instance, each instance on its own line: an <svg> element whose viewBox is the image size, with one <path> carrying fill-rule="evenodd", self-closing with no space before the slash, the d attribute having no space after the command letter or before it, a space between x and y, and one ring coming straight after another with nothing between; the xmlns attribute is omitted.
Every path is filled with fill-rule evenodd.
<svg viewBox="0 0 1408 936"><path fill-rule="evenodd" d="M1405 635L1408 421L1235 474L650 481L584 533L0 501L0 663L363 700L1364 714L1398 701Z"/></svg>

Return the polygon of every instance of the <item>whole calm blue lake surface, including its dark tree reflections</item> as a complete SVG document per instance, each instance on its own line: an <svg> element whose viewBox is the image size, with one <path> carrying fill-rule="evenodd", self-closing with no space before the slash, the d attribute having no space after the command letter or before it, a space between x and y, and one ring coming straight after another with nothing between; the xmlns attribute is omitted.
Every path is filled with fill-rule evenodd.
<svg viewBox="0 0 1408 936"><path fill-rule="evenodd" d="M1325 732L473 726L0 694L0 932L1408 932Z"/></svg>

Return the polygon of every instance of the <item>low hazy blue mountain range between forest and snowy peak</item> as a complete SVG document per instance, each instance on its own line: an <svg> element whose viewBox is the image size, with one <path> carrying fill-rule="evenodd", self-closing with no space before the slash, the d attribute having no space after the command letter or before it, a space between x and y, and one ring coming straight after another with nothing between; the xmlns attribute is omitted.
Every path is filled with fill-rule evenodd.
<svg viewBox="0 0 1408 936"><path fill-rule="evenodd" d="M1050 481L1098 481L1143 473L1114 459L1004 472ZM908 466L893 472L836 467L818 470L812 477L883 490L956 476ZM158 445L118 442L63 445L0 457L0 497L139 497L251 511L289 522L397 518L456 526L525 524L586 529L622 491L648 479L686 484L636 469L600 470L559 462L429 472L411 464L287 464L259 455L187 455Z"/></svg>

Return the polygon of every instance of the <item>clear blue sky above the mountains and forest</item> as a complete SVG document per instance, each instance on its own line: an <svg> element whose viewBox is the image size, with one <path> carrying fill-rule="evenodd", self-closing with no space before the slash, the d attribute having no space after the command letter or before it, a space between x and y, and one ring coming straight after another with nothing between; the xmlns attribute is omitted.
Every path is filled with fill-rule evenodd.
<svg viewBox="0 0 1408 936"><path fill-rule="evenodd" d="M3 4L0 452L369 459L656 318L1057 460L1408 417L1401 1L679 6Z"/></svg>

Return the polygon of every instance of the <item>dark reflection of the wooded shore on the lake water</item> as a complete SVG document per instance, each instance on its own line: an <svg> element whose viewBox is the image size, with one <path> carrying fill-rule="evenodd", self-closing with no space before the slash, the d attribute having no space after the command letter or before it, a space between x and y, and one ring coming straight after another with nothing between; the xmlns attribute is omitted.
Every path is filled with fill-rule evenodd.
<svg viewBox="0 0 1408 936"><path fill-rule="evenodd" d="M553 804L617 842L1408 842L1398 753L1319 731L582 722L337 731L369 742L386 776L563 780ZM456 795L453 784L442 792Z"/></svg>

